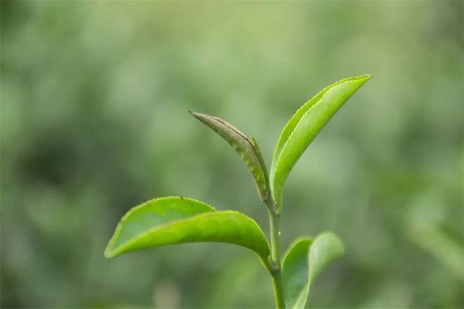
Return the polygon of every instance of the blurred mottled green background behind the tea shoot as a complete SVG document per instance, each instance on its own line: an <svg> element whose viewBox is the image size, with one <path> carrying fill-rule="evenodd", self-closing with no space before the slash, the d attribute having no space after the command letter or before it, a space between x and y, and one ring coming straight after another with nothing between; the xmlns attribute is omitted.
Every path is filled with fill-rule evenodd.
<svg viewBox="0 0 464 309"><path fill-rule="evenodd" d="M233 150L372 74L284 195L283 249L347 254L313 308L463 308L463 1L1 1L1 307L271 308L258 259L185 244L106 260L131 206L182 195L267 215Z"/></svg>

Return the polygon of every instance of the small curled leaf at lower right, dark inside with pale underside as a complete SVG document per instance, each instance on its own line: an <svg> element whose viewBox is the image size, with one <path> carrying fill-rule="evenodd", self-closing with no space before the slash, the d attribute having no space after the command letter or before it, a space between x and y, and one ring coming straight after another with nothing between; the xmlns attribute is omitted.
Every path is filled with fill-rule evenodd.
<svg viewBox="0 0 464 309"><path fill-rule="evenodd" d="M342 241L332 232L324 232L316 239L302 237L290 245L282 263L285 308L304 308L316 278L343 253Z"/></svg>

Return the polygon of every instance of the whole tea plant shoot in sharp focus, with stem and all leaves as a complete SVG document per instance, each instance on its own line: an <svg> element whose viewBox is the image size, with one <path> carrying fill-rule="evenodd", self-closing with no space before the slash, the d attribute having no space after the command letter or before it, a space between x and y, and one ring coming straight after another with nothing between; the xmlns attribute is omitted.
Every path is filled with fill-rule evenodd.
<svg viewBox="0 0 464 309"><path fill-rule="evenodd" d="M302 105L278 138L269 172L253 136L248 138L218 117L190 112L226 140L250 170L259 199L269 213L270 242L262 228L243 213L217 210L187 197L159 197L135 206L122 217L105 257L187 242L236 244L253 251L269 272L276 308L304 308L314 281L344 254L344 246L333 232L321 232L297 238L282 257L279 223L285 213L283 187L311 141L369 79L370 75L342 79Z"/></svg>

